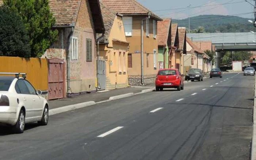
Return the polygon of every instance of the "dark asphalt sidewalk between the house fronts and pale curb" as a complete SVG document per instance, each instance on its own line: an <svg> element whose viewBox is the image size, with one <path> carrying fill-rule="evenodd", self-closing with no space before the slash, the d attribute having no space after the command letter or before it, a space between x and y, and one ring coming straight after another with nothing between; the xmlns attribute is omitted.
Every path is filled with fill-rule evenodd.
<svg viewBox="0 0 256 160"><path fill-rule="evenodd" d="M152 87L150 87L152 88ZM112 96L118 96L118 95L123 95L123 94L128 94L128 93L140 93L144 89L148 88L121 88L121 89L114 89L111 91L106 91L106 92L93 92L93 93L88 93L88 94L82 94L82 95L77 95L77 96L72 96L71 98L63 98L63 99L58 99L58 100L49 100L49 106L50 109L54 108L59 108L63 106L69 106L73 104L78 104L78 103L83 103L83 102L89 102L89 101L94 101L94 102L101 102L103 100L109 100L110 97Z"/></svg>

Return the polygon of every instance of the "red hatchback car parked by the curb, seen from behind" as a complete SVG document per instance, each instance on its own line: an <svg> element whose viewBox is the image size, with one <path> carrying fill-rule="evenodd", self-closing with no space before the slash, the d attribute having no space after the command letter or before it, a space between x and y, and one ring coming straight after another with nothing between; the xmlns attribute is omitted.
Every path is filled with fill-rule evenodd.
<svg viewBox="0 0 256 160"><path fill-rule="evenodd" d="M155 90L162 91L163 88L184 89L184 80L178 69L160 69L155 79Z"/></svg>

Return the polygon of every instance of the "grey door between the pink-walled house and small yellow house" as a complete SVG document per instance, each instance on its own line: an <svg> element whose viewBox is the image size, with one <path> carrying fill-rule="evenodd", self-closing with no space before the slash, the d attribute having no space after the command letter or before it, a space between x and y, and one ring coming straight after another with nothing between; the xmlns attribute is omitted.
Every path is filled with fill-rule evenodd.
<svg viewBox="0 0 256 160"><path fill-rule="evenodd" d="M104 90L106 89L106 61L99 60L98 63L98 87L99 89Z"/></svg>

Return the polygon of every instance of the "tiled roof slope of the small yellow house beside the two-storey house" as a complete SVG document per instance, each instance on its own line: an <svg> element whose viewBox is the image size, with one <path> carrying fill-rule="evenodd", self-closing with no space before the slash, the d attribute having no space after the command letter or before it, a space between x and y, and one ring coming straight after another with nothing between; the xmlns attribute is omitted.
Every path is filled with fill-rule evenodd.
<svg viewBox="0 0 256 160"><path fill-rule="evenodd" d="M105 34L99 40L99 42L104 43L109 38L114 19L116 18L116 13L110 10L109 8L106 8L106 6L103 3L100 3L100 6L101 6L102 19L105 26ZM97 38L99 38L101 35L102 34L97 34Z"/></svg>

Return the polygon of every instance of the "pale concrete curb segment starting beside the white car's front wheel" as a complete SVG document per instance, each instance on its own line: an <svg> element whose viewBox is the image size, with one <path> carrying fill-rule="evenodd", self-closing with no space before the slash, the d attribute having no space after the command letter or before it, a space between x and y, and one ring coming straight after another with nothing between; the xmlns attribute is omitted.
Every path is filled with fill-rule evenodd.
<svg viewBox="0 0 256 160"><path fill-rule="evenodd" d="M49 115L63 113L63 112L75 110L75 109L78 109L78 108L88 107L88 106L92 106L94 104L96 104L94 101L89 101L89 102L83 102L83 103L78 103L78 104L72 104L72 105L69 105L69 106L54 108L54 109L49 110Z"/></svg>

